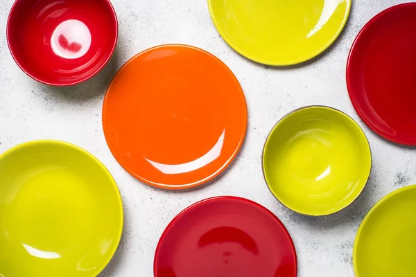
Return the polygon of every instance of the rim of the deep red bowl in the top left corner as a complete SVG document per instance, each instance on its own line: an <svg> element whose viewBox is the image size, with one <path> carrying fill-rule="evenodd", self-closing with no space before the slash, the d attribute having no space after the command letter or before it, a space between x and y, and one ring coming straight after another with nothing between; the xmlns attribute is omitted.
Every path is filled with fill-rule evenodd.
<svg viewBox="0 0 416 277"><path fill-rule="evenodd" d="M7 19L7 24L6 24L6 40L7 40L7 45L10 51L10 54L13 57L13 60L15 60L15 63L17 64L17 66L19 66L19 68L21 69L21 71L23 71L24 73L26 73L26 75L28 75L29 77L31 77L33 80L40 82L42 84L46 84L52 87L70 87L76 84L80 84L82 82L85 82L91 78L93 78L95 75L98 74L98 72L100 72L107 64L108 62L110 62L110 59L112 57L112 55L114 54L114 51L116 50L116 46L117 46L117 42L119 40L119 21L117 19L117 15L116 15L116 10L114 9L114 6L112 5L110 0L101 0L101 1L105 1L105 3L107 3L107 5L110 7L110 10L112 11L112 16L114 18L114 22L115 22L115 28L116 28L116 33L114 36L114 42L112 45L112 50L110 51L110 55L108 55L108 57L105 58L105 61L103 62L103 64L101 64L101 66L98 66L97 69L95 69L92 73L90 73L89 75L80 78L80 80L76 80L73 82L64 82L64 83L60 83L60 82L46 82L40 78L37 78L35 75L33 75L33 73L27 71L25 69L24 66L22 66L18 61L17 61L17 55L15 53L15 51L13 51L12 46L10 45L10 37L12 36L10 33L10 20L12 17L12 14L15 12L15 9L17 7L18 3L21 3L21 1L24 0L15 0L15 2L12 5L12 8L10 8L10 12L8 14L8 19Z"/></svg>

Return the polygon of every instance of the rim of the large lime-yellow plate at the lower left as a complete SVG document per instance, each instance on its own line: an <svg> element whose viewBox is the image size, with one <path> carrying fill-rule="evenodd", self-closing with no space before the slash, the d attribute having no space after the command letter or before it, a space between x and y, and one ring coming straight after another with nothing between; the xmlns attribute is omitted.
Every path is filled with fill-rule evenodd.
<svg viewBox="0 0 416 277"><path fill-rule="evenodd" d="M97 166L99 166L103 170L103 174L106 175L107 179L110 181L110 185L112 188L114 188L114 197L116 197L117 206L119 206L119 229L116 229L116 244L114 244L113 249L110 251L110 255L107 259L103 260L103 264L100 267L97 267L97 269L91 274L91 277L95 277L98 274L101 273L107 267L107 265L110 263L112 258L114 257L114 254L116 253L117 249L119 249L119 245L121 242L121 238L123 235L123 228L124 228L124 210L123 210L123 200L121 199L121 193L119 190L119 186L117 186L116 181L114 180L114 177L112 177L110 171L104 166L104 164L96 158L93 154L88 152L87 150L80 148L78 145L75 145L73 143L67 143L66 141L60 141L60 140L53 140L53 139L44 139L44 140L36 140L36 141L27 141L25 143L21 143L19 145L15 145L14 147L10 148L9 150L6 150L6 152L3 152L0 154L0 162L5 159L6 157L14 154L15 152L22 150L28 146L32 145L61 145L67 148L71 148L73 150L76 150L77 152L80 152L82 154L85 154L86 157L89 159L92 159L94 163L96 163ZM1 276L1 274L0 274Z"/></svg>

